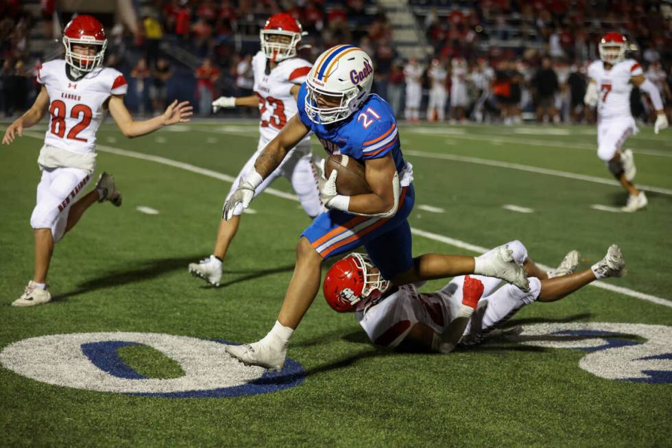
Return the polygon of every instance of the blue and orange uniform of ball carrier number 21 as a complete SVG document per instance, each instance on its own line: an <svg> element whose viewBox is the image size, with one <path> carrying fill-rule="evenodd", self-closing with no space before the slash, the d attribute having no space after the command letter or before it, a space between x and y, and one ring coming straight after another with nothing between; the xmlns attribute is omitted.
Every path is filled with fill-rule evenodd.
<svg viewBox="0 0 672 448"><path fill-rule="evenodd" d="M413 167L404 160L394 113L378 95L369 95L357 112L333 124L317 124L305 110L307 95L303 84L298 94L298 115L324 146L328 154L345 154L359 163L392 154L401 192L397 212L392 217L353 215L330 209L318 215L302 236L322 258L334 257L364 246L371 261L386 279L413 266L411 228L408 216L413 209Z"/></svg>

